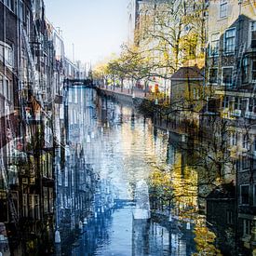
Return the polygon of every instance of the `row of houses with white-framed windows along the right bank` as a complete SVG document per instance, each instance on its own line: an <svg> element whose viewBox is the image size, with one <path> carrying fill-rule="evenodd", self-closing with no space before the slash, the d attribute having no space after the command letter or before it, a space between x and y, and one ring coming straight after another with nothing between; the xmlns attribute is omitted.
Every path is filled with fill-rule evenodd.
<svg viewBox="0 0 256 256"><path fill-rule="evenodd" d="M167 3L130 1L129 39L135 40L134 32L139 31L136 43L142 46L143 20L150 20L157 6ZM171 109L170 115L158 113L161 122L157 125L182 134L179 148L193 158L192 163L186 160L182 165L197 165L198 177L190 182L208 184L207 189L198 186L198 194L207 200L201 204L197 198L194 207L206 213L218 247L225 255L250 255L256 249L256 2L175 0L171 4L176 12L182 10L180 17L184 13L192 18L195 13L201 15L203 30L197 31L203 32L203 41L197 41L194 57L190 55L188 61L182 61L186 56L181 55L170 83L158 79L159 90L168 93ZM178 18L169 19L173 27ZM183 26L181 34L189 35L194 27ZM166 33L172 33L171 29Z"/></svg>

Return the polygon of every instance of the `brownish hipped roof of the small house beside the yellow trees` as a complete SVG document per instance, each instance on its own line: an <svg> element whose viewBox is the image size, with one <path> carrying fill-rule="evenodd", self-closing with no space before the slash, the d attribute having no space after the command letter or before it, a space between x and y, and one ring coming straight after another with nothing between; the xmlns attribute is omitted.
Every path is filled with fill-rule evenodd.
<svg viewBox="0 0 256 256"><path fill-rule="evenodd" d="M182 67L174 74L172 74L171 80L203 80L204 69L199 69L198 66Z"/></svg>

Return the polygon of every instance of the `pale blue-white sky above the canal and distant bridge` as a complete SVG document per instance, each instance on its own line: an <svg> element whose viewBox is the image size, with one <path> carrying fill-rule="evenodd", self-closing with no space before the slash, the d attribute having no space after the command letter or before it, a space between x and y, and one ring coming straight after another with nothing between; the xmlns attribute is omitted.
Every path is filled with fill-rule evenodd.
<svg viewBox="0 0 256 256"><path fill-rule="evenodd" d="M128 39L128 0L45 0L46 16L60 27L66 56L95 64L120 52Z"/></svg>

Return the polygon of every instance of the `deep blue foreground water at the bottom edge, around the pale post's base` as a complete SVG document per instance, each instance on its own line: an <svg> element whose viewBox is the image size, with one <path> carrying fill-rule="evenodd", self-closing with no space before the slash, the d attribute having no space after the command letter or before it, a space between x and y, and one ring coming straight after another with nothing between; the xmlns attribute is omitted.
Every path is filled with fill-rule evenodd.
<svg viewBox="0 0 256 256"><path fill-rule="evenodd" d="M120 203L120 202L119 202ZM84 226L72 255L191 255L186 235L169 224L134 220L134 207L124 201Z"/></svg>

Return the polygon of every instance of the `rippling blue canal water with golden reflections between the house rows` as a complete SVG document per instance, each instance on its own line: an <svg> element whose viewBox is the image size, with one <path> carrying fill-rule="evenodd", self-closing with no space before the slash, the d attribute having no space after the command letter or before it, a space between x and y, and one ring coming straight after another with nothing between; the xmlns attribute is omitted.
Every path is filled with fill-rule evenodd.
<svg viewBox="0 0 256 256"><path fill-rule="evenodd" d="M85 90L79 140L100 185L93 214L64 253L192 255L198 250L196 238L205 240L208 247L207 237L198 235L206 227L204 217L195 214L196 188L183 186L184 181L195 181L196 174L182 168L184 155L175 146L179 134L155 128L150 118L125 103ZM138 182L145 182L149 191L152 212L148 220L134 219ZM184 195L179 196L181 191ZM169 199L164 200L164 195ZM205 232L205 236L209 235Z"/></svg>

